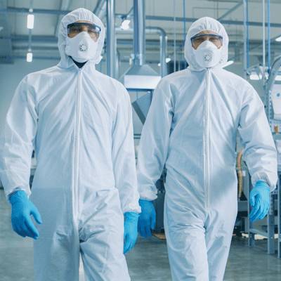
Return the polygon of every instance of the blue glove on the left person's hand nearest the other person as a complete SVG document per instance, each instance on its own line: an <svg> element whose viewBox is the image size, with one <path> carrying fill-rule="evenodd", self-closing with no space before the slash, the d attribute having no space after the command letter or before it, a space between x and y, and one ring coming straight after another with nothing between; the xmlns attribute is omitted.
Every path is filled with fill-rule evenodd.
<svg viewBox="0 0 281 281"><path fill-rule="evenodd" d="M124 254L133 249L138 238L138 216L133 211L124 214Z"/></svg>

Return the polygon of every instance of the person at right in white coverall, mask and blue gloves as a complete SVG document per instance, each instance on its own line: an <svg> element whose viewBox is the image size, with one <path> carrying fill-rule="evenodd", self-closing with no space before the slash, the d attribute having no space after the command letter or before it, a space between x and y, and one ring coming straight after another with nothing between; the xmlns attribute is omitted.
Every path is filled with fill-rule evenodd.
<svg viewBox="0 0 281 281"><path fill-rule="evenodd" d="M212 18L195 21L185 39L188 68L164 77L153 94L138 149L142 213L149 236L166 174L164 228L176 281L222 281L237 216L236 135L254 186L252 221L266 216L277 158L263 103L244 79L223 70L228 35Z"/></svg>

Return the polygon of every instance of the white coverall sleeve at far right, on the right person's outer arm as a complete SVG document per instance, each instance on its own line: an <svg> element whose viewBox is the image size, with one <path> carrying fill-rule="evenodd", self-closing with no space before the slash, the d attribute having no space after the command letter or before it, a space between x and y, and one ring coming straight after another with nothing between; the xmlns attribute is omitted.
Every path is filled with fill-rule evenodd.
<svg viewBox="0 0 281 281"><path fill-rule="evenodd" d="M263 103L253 88L244 96L238 131L252 185L266 181L273 191L277 183L277 152Z"/></svg>

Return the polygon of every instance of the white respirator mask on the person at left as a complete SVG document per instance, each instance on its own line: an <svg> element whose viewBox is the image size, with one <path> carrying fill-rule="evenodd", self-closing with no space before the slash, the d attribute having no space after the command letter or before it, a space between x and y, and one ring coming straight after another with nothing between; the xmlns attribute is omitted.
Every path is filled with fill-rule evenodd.
<svg viewBox="0 0 281 281"><path fill-rule="evenodd" d="M80 32L72 38L66 38L65 53L78 63L95 58L97 48L98 42L93 41L88 32Z"/></svg>

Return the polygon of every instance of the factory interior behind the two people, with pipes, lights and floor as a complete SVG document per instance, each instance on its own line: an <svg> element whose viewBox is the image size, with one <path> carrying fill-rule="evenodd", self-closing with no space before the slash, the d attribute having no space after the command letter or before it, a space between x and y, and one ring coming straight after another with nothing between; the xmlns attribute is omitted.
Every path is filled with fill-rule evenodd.
<svg viewBox="0 0 281 281"><path fill-rule="evenodd" d="M153 95L162 77L188 65L183 48L188 28L198 18L220 21L229 36L225 69L247 79L263 101L281 165L281 1L280 0L143 0L144 35L136 32L133 0L0 0L0 132L13 93L26 74L56 65L60 60L57 35L63 15L87 8L103 21L107 35L97 70L124 84L133 108L136 152ZM108 3L113 5L112 10ZM27 18L32 15L32 27ZM110 28L108 28L110 25ZM134 44L143 40L142 73L133 73ZM116 42L108 46L108 42ZM110 55L111 52L111 55ZM139 77L136 79L136 75ZM271 194L270 212L249 221L249 171L237 148L238 214L223 280L281 280L281 200L279 181ZM36 170L32 159L31 179ZM133 281L171 280L163 225L164 183L157 183L155 233L138 237L126 255ZM0 188L0 280L33 280L33 244L11 228L11 206ZM84 280L83 266L80 280ZM66 281L66 280L65 280ZM108 280L110 281L110 280ZM121 280L122 281L122 280Z"/></svg>

